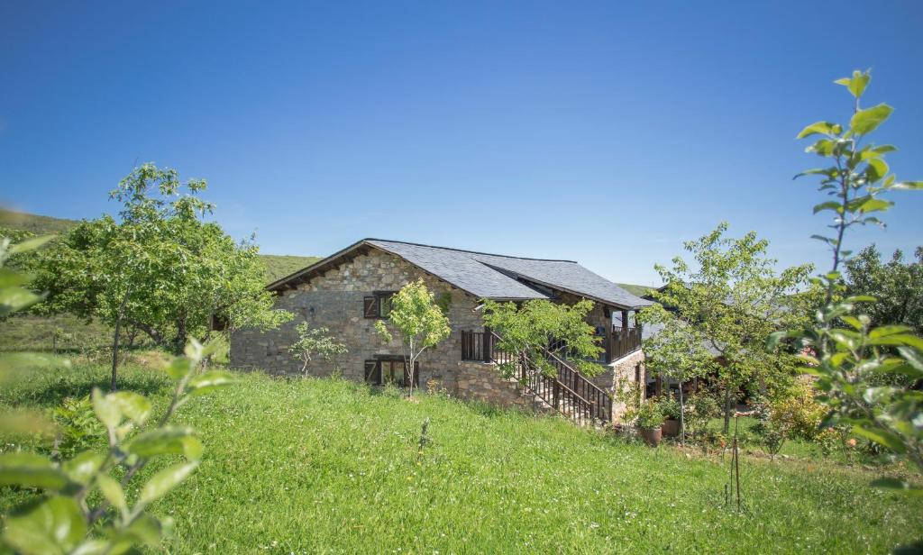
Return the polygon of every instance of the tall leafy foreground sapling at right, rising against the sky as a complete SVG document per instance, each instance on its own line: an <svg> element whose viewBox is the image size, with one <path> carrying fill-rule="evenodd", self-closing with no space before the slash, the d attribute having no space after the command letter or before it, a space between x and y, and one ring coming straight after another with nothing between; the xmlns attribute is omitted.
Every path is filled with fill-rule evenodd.
<svg viewBox="0 0 923 555"><path fill-rule="evenodd" d="M891 145L869 140L893 109L881 103L862 108L860 100L869 85L869 72L853 72L836 81L853 96L853 112L847 125L833 122L810 124L798 138L815 137L807 148L828 161L825 168L799 173L821 178L819 190L833 197L814 207L814 213L833 212L830 235L816 235L831 249L829 272L814 278L825 290L825 302L813 322L802 328L773 334L767 347L784 339L808 349L805 372L817 376L819 400L830 409L827 426L850 426L857 435L904 456L923 470L923 392L895 385L879 385L881 374L903 374L911 382L923 380L923 338L899 323L873 325L864 307L878 301L869 295L843 296L841 266L851 252L844 248L846 231L856 226L880 225L878 214L893 206L881 195L893 191L923 190L923 182L899 182L885 162ZM896 354L895 354L896 353ZM881 487L911 489L904 482L885 478ZM917 493L921 490L916 489Z"/></svg>

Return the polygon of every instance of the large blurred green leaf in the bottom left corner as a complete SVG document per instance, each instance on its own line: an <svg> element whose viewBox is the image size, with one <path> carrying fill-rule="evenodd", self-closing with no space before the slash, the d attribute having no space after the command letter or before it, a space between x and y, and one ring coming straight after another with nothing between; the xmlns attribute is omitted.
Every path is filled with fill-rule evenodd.
<svg viewBox="0 0 923 555"><path fill-rule="evenodd" d="M86 533L77 502L53 497L26 514L9 517L3 537L21 553L46 555L71 551Z"/></svg>

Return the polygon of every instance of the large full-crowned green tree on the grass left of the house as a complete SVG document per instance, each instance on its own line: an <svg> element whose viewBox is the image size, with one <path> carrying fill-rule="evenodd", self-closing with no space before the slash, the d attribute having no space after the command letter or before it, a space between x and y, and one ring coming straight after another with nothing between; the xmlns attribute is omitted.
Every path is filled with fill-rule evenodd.
<svg viewBox="0 0 923 555"><path fill-rule="evenodd" d="M38 262L35 286L50 293L44 312L113 326L113 389L124 325L181 352L188 337L208 339L216 318L267 329L292 317L273 310L258 248L204 221L212 210L198 197L205 187L144 164L110 194L122 203L121 221L83 221Z"/></svg>

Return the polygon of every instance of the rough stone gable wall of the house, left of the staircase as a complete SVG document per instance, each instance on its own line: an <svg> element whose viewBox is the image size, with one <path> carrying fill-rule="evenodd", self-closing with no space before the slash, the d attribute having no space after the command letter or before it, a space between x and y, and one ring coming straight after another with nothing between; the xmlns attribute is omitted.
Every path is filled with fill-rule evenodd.
<svg viewBox="0 0 923 555"><path fill-rule="evenodd" d="M276 307L294 313L294 320L265 333L252 329L235 331L231 337L231 364L238 369L273 374L299 372L301 363L287 349L296 340L295 326L308 322L329 328L330 335L349 349L347 354L330 362L312 362L308 372L323 376L336 371L343 377L363 381L366 360L375 360L376 355L402 355L399 338L395 337L389 345L382 343L375 332L378 320L364 316L363 299L374 291L401 289L417 278L423 278L437 298L444 293L451 296L450 337L421 357L420 385L426 387L432 380L453 396L504 407L532 407L528 396L521 395L516 384L505 380L493 365L462 361L462 330L484 329L481 313L474 310L478 300L401 257L378 249L360 254L297 289L283 292Z"/></svg>

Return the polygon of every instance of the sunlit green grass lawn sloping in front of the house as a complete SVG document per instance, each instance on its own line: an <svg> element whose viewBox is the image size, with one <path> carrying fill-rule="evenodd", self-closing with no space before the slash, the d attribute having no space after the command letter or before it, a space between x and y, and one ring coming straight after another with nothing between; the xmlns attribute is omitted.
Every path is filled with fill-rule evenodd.
<svg viewBox="0 0 923 555"><path fill-rule="evenodd" d="M124 376L165 407L160 371ZM0 408L52 407L105 382L101 366L45 368L0 389ZM246 374L179 419L206 454L153 507L176 521L175 553L886 552L923 536L923 500L870 490L859 469L745 456L737 514L720 457L333 379ZM29 495L0 489L0 509Z"/></svg>

